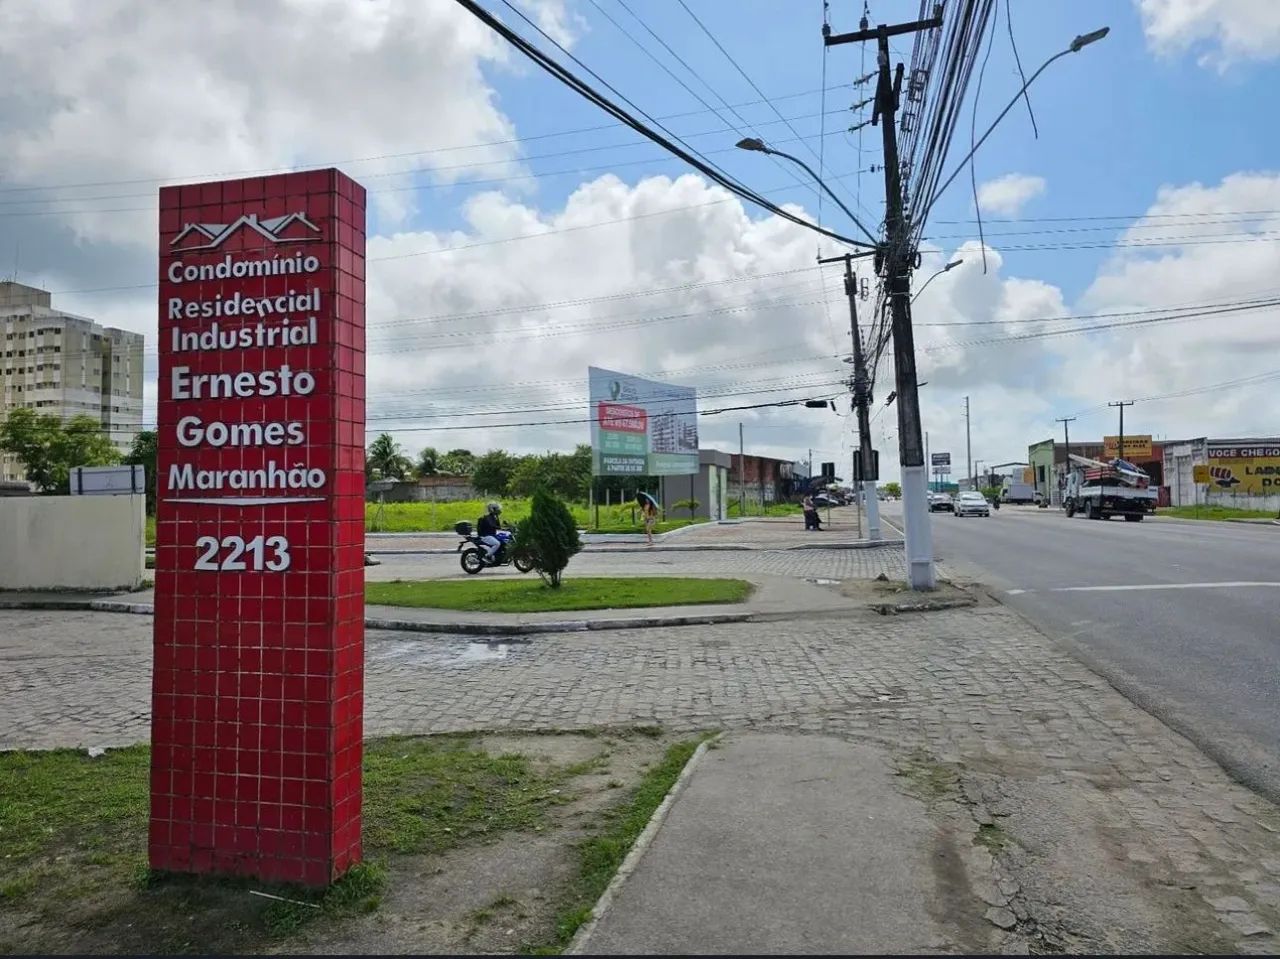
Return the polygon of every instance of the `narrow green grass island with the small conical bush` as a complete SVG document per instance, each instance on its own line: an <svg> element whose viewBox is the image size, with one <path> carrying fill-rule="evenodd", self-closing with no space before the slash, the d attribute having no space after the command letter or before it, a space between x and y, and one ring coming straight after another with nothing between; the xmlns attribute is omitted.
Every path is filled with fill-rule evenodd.
<svg viewBox="0 0 1280 959"><path fill-rule="evenodd" d="M559 589L539 579L393 580L365 584L365 600L372 606L531 613L741 603L751 589L744 580L675 576L567 579Z"/></svg>

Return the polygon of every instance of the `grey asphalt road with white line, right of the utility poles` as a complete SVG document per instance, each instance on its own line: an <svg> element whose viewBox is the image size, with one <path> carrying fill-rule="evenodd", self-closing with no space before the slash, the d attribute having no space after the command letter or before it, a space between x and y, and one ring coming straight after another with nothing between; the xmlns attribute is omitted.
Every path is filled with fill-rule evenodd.
<svg viewBox="0 0 1280 959"><path fill-rule="evenodd" d="M1280 802L1280 528L1002 507L934 513L933 543L956 574Z"/></svg>

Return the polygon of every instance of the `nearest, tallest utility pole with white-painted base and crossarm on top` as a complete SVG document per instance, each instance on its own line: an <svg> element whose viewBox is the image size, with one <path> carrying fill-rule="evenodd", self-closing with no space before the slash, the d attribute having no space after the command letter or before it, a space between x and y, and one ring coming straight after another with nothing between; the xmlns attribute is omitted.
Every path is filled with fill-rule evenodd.
<svg viewBox="0 0 1280 959"><path fill-rule="evenodd" d="M884 230L886 243L877 256L883 269L886 294L892 314L893 379L897 392L899 461L902 465L902 519L906 531L908 577L913 589L933 589L937 572L933 566L933 533L929 529L927 483L929 469L920 429L920 397L916 392L915 338L911 333L911 275L914 251L910 245L910 224L902 213L902 174L897 156L897 101L902 90L904 65L890 76L888 38L904 33L916 33L942 26L942 6L936 5L928 20L879 24L868 29L865 18L855 33L832 36L824 29L826 46L877 41L879 81L876 88L876 108L872 123L881 124L884 141Z"/></svg>

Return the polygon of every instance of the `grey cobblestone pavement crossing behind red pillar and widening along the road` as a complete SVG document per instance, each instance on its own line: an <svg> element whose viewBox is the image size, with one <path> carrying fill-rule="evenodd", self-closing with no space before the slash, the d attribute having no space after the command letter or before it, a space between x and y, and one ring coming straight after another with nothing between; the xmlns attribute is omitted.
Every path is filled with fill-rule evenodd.
<svg viewBox="0 0 1280 959"><path fill-rule="evenodd" d="M145 739L150 625L0 612L0 746ZM366 662L370 735L660 723L879 743L904 784L972 817L993 878L966 901L1011 949L1280 947L1277 809L1001 606L509 644L371 631Z"/></svg>

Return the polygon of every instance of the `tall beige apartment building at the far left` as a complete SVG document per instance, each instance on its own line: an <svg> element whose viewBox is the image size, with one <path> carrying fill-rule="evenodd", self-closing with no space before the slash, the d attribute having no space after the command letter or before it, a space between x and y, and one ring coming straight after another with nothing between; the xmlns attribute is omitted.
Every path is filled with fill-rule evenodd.
<svg viewBox="0 0 1280 959"><path fill-rule="evenodd" d="M142 429L142 343L54 309L49 291L0 282L0 417L22 406L92 416L127 451ZM0 456L0 480L22 479L22 465Z"/></svg>

